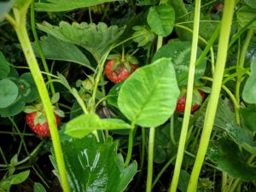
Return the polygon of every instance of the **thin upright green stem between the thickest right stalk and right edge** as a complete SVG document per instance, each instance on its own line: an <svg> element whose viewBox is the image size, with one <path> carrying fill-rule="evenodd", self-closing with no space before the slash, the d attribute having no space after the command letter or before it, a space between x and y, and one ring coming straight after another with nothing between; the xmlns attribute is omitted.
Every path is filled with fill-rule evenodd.
<svg viewBox="0 0 256 192"><path fill-rule="evenodd" d="M237 76L237 79L236 79L236 103L238 104L238 106L240 106L240 87L241 87L241 82L242 82L242 75L241 73L239 73L240 70L243 70L244 68L244 61L246 59L246 54L247 54L247 49L248 49L248 46L250 44L250 41L251 39L253 38L253 33L254 33L254 30L253 28L251 28L248 33L247 33L247 38L242 46L242 49L241 49L241 55L240 55L240 58L239 58L239 63L238 63L238 66L236 68L237 70L237 73L238 73L238 76ZM235 108L235 113L236 113L236 123L238 125L240 125L240 115L239 115L239 108Z"/></svg>

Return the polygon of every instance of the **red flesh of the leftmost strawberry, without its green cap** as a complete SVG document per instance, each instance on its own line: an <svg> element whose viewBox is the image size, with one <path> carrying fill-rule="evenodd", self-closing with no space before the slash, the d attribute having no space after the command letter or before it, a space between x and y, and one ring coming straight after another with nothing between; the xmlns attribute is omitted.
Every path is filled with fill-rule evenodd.
<svg viewBox="0 0 256 192"><path fill-rule="evenodd" d="M36 123L35 118L38 112L27 113L26 114L26 124L40 137L50 137L48 122L38 122ZM57 127L61 124L61 117L55 114L55 120Z"/></svg>

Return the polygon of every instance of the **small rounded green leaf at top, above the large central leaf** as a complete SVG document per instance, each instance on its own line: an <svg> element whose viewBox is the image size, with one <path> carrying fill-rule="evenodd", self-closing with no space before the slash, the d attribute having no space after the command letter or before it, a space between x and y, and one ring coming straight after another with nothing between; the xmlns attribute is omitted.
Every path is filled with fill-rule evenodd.
<svg viewBox="0 0 256 192"><path fill-rule="evenodd" d="M159 36L166 37L171 34L174 26L174 9L166 3L151 7L148 12L147 21L153 32Z"/></svg>

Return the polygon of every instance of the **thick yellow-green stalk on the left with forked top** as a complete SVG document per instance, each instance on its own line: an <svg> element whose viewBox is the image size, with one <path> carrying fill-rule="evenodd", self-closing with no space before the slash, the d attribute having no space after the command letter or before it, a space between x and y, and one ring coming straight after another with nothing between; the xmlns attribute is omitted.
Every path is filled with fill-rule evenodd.
<svg viewBox="0 0 256 192"><path fill-rule="evenodd" d="M60 137L58 135L57 125L55 122L55 114L51 107L51 102L50 102L48 90L44 83L44 78L42 76L42 73L40 72L40 68L38 67L38 61L36 60L36 57L32 49L32 45L30 43L28 34L26 32L27 9L28 7L26 9L24 8L21 10L14 8L13 10L15 14L15 20L11 18L9 15L6 17L6 19L9 20L12 26L14 26L15 28L15 32L19 38L21 48L26 57L26 62L28 64L28 67L30 67L32 77L35 81L35 84L38 87L38 93L43 103L46 118L49 123L49 131L52 137L56 161L57 161L58 169L60 172L61 185L65 192L69 192L65 163L64 163L64 158L61 151L61 142L60 142Z"/></svg>

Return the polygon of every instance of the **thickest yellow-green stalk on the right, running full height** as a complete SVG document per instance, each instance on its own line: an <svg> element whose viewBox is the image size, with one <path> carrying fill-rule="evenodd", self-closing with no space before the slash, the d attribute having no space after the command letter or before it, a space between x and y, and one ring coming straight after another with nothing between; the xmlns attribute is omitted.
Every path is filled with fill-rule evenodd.
<svg viewBox="0 0 256 192"><path fill-rule="evenodd" d="M225 62L227 58L228 44L230 40L230 28L233 19L235 1L225 0L224 4L224 15L218 41L217 61L213 74L212 93L207 105L205 123L201 135L201 143L198 148L198 154L195 158L195 165L189 180L189 186L187 190L188 192L194 192L196 190L198 177L201 172L201 166L203 164L205 155L207 153L207 147L212 133L212 126L218 107L218 98L221 90Z"/></svg>

